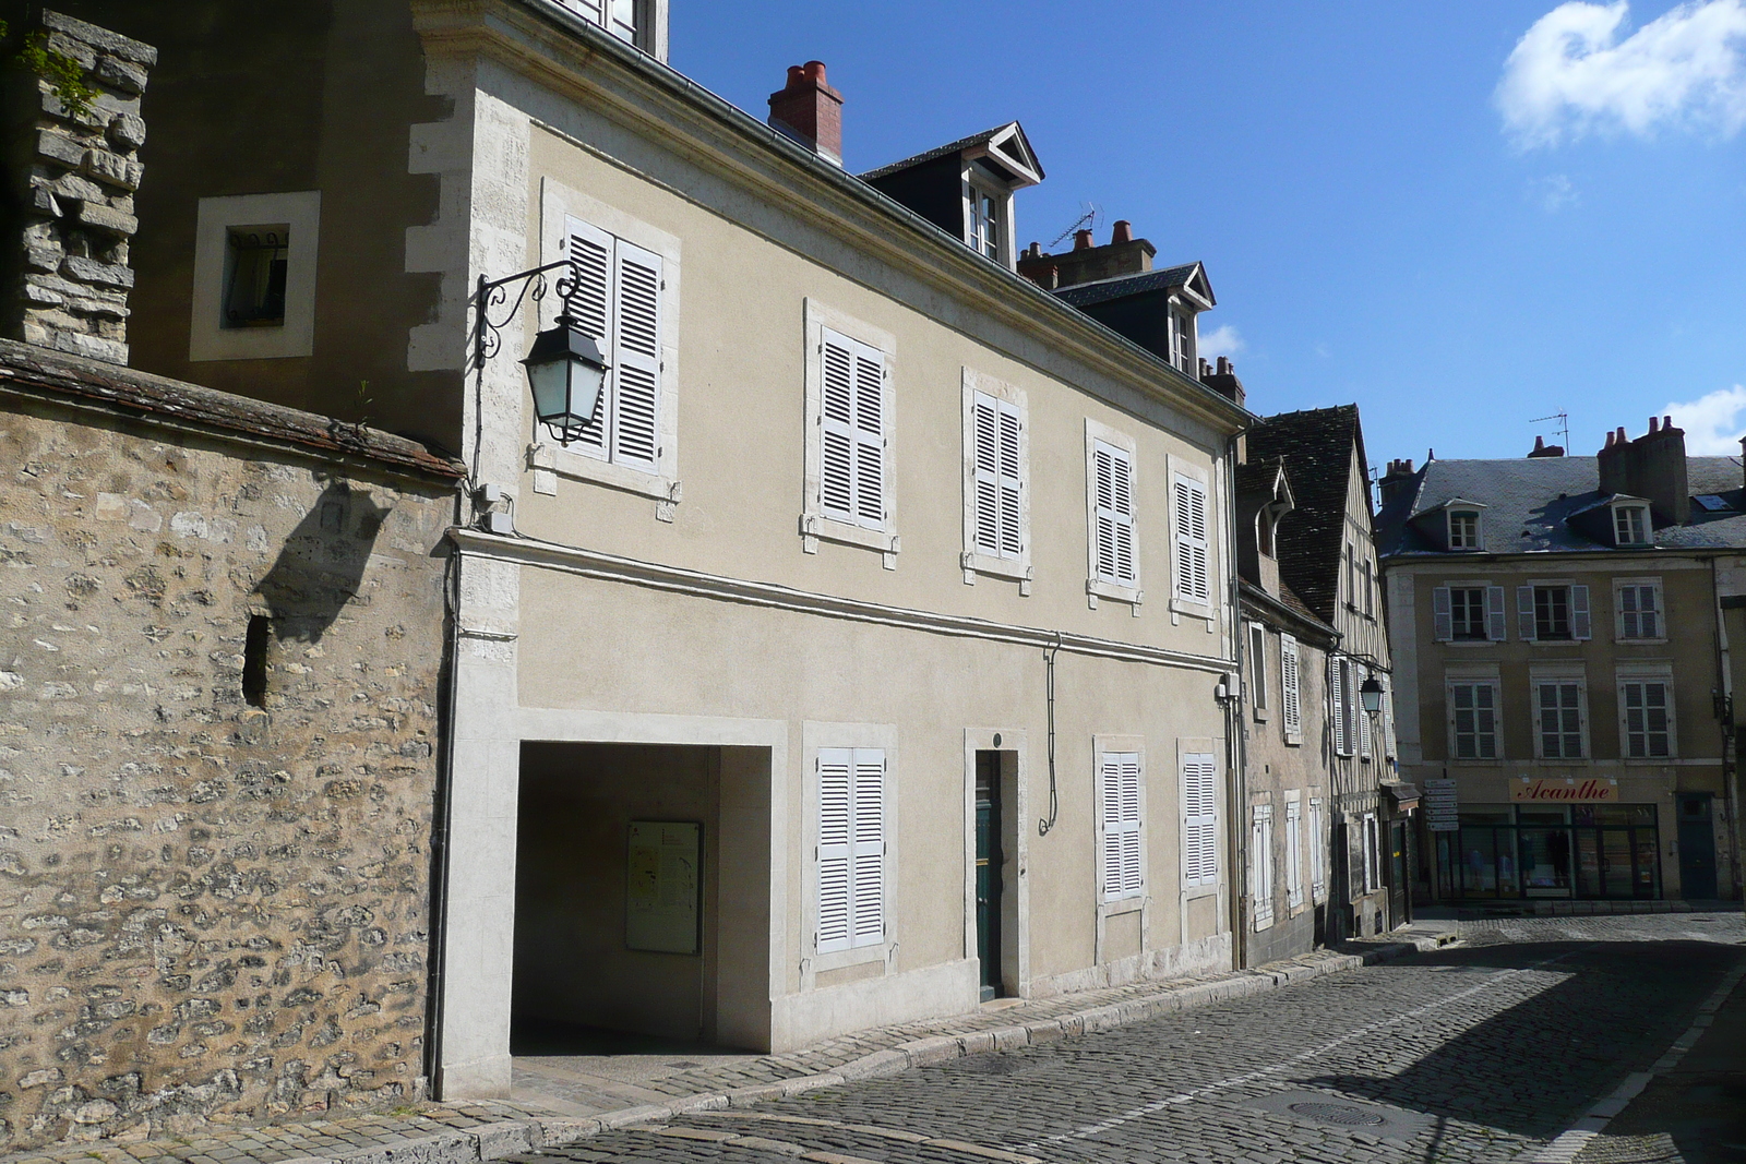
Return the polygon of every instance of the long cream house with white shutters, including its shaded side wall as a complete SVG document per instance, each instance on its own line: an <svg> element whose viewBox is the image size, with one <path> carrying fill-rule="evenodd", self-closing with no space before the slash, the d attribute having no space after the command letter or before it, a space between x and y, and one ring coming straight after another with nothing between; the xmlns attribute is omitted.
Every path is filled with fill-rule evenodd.
<svg viewBox="0 0 1746 1164"><path fill-rule="evenodd" d="M857 178L822 65L751 117L660 3L147 9L77 5L159 44L154 133L234 148L140 190L134 363L468 466L438 1094L553 1031L787 1049L1231 965L1247 414L1014 272L1016 124ZM262 52L320 68L223 82ZM560 309L609 365L567 438L517 363Z"/></svg>

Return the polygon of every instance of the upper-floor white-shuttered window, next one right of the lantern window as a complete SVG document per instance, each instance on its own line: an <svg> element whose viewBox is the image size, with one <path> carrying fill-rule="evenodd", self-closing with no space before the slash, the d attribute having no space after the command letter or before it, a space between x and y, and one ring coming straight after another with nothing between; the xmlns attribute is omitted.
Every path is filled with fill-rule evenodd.
<svg viewBox="0 0 1746 1164"><path fill-rule="evenodd" d="M890 433L896 340L817 300L807 305L807 480L801 550L878 550L897 569Z"/></svg>

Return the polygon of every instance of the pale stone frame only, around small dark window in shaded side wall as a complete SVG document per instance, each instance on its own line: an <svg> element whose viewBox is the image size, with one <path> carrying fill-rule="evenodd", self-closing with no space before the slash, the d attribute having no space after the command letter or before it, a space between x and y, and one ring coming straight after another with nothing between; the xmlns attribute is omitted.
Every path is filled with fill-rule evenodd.
<svg viewBox="0 0 1746 1164"><path fill-rule="evenodd" d="M223 326L232 227L285 223L285 323L260 328ZM194 227L194 290L189 318L189 359L288 359L309 356L316 335L316 262L321 234L321 192L234 194L203 197Z"/></svg>

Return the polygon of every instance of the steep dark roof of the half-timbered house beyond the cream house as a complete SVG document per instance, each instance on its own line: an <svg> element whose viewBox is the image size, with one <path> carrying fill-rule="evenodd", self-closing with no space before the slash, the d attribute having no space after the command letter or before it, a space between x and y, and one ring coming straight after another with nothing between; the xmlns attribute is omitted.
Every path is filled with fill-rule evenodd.
<svg viewBox="0 0 1746 1164"><path fill-rule="evenodd" d="M1250 461L1285 459L1297 508L1280 520L1275 550L1280 579L1323 623L1334 621L1346 541L1351 457L1364 459L1358 405L1306 408L1262 417L1248 429Z"/></svg>

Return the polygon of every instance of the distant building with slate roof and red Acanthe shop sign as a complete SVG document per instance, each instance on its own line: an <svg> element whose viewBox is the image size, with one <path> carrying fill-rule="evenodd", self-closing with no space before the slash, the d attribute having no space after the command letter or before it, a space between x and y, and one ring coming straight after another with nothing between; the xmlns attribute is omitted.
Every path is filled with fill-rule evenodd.
<svg viewBox="0 0 1746 1164"><path fill-rule="evenodd" d="M1652 419L1598 457L1392 462L1383 490L1404 763L1456 801L1419 894L1737 895L1739 464Z"/></svg>

